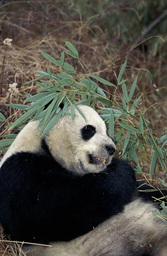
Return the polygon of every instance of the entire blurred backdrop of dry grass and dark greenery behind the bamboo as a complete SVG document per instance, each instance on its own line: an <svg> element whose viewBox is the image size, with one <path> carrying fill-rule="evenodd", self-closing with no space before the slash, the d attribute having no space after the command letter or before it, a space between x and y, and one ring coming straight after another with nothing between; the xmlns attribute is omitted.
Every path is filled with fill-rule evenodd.
<svg viewBox="0 0 167 256"><path fill-rule="evenodd" d="M11 46L3 44L5 38L13 39ZM124 79L129 79L127 89L130 91L132 81L139 74L134 99L143 93L139 107L147 110L153 136L167 134L166 0L0 0L0 112L7 124L13 123L25 111L11 109L4 103L23 104L24 92L34 95L39 90L35 83L25 84L37 78L32 70L46 72L49 67L52 73L60 71L60 67L44 59L39 51L60 59L66 48L65 41L76 47L87 73L101 76L113 84L117 84L127 58L124 73ZM76 59L68 56L65 61L75 67L78 75L83 74ZM8 91L9 84L13 83L18 84L17 94ZM102 88L111 99L113 87L102 85ZM122 101L121 87L114 96L118 103ZM6 123L1 122L0 136L6 133L9 133ZM122 145L118 145L117 155L121 153ZM144 176L138 176L140 179L150 177L152 155L149 147L139 153L144 172ZM136 166L133 160L131 164ZM158 184L158 177L167 180L159 163L151 182ZM5 250L6 243L1 246L0 255L13 256L19 250L21 253L20 247Z"/></svg>

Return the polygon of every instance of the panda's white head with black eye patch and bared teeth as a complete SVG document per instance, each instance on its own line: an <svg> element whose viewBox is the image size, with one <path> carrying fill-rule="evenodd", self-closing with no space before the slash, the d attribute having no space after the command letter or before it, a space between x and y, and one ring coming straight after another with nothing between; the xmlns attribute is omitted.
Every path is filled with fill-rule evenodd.
<svg viewBox="0 0 167 256"><path fill-rule="evenodd" d="M86 105L78 108L86 122L75 109L74 121L68 114L62 116L46 135L46 143L55 160L67 170L78 175L101 172L111 163L115 144L93 108Z"/></svg>

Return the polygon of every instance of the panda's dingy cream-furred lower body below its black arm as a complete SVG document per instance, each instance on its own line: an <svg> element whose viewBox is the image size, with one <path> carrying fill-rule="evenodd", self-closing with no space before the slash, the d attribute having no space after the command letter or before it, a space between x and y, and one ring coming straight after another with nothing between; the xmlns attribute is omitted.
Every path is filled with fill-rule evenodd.
<svg viewBox="0 0 167 256"><path fill-rule="evenodd" d="M167 256L167 225L152 210L153 204L137 199L84 236L25 251L31 256Z"/></svg>

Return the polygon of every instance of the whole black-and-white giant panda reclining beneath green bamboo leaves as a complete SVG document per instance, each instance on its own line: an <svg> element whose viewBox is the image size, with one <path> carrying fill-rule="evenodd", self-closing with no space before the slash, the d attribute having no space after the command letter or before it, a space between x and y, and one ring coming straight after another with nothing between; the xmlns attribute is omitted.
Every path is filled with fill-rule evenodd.
<svg viewBox="0 0 167 256"><path fill-rule="evenodd" d="M92 108L40 137L29 122L0 162L0 223L33 256L167 255L167 226L138 198L135 174ZM68 109L70 112L70 110ZM150 247L150 245L152 247ZM159 254L158 254L159 253ZM166 254L165 254L166 253Z"/></svg>

